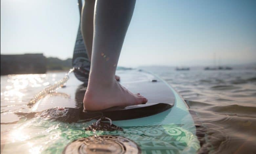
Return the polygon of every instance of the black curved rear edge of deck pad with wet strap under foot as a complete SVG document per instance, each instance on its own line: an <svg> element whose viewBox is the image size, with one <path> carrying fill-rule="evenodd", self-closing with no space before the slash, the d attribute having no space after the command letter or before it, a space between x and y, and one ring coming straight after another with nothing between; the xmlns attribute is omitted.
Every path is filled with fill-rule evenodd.
<svg viewBox="0 0 256 154"><path fill-rule="evenodd" d="M73 123L81 121L90 121L93 119L99 119L100 117L108 117L113 121L116 120L128 120L151 116L160 112L163 112L172 105L165 103L148 104L127 106L125 108L112 107L101 111L84 111L83 107L68 108L68 107L54 107L40 112L17 112L16 115L25 116L26 118L42 117L50 118L57 121ZM66 114L55 114L57 110L66 110Z"/></svg>

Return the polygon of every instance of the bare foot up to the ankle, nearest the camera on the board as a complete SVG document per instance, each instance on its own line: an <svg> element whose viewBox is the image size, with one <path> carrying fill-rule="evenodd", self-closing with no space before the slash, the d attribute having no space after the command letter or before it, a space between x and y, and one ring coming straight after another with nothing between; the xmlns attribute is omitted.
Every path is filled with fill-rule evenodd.
<svg viewBox="0 0 256 154"><path fill-rule="evenodd" d="M116 80L112 84L88 84L84 96L86 110L103 110L114 106L131 106L147 103L147 99L140 94L133 94Z"/></svg>

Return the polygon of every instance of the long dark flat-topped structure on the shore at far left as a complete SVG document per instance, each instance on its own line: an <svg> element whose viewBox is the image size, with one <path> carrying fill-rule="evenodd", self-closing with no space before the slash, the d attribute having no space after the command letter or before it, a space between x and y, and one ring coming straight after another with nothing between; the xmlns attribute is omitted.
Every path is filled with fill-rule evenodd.
<svg viewBox="0 0 256 154"><path fill-rule="evenodd" d="M43 54L1 55L1 75L46 73Z"/></svg>

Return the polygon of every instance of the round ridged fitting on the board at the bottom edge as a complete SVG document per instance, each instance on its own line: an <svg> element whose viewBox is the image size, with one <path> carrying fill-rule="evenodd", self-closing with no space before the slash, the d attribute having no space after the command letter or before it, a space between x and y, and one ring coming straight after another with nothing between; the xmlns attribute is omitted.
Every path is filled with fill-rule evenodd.
<svg viewBox="0 0 256 154"><path fill-rule="evenodd" d="M126 154L126 153L141 153L139 146L124 137L99 135L88 138L81 138L68 144L63 150L63 154Z"/></svg>

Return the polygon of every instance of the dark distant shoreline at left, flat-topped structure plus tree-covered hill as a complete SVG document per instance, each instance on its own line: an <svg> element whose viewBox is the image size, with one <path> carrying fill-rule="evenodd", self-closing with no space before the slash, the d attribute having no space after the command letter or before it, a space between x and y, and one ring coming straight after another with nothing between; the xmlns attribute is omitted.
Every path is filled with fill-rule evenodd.
<svg viewBox="0 0 256 154"><path fill-rule="evenodd" d="M61 72L72 68L72 59L61 60L45 57L42 53L2 55L1 74L44 74L49 71Z"/></svg>

